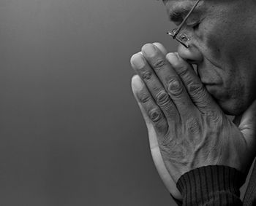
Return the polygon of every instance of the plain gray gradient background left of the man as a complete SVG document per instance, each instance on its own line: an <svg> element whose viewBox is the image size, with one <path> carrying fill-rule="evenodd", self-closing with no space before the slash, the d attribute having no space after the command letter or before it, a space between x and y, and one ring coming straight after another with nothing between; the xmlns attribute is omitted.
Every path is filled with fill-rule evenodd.
<svg viewBox="0 0 256 206"><path fill-rule="evenodd" d="M175 45L161 1L0 1L0 205L174 205L129 58Z"/></svg>

